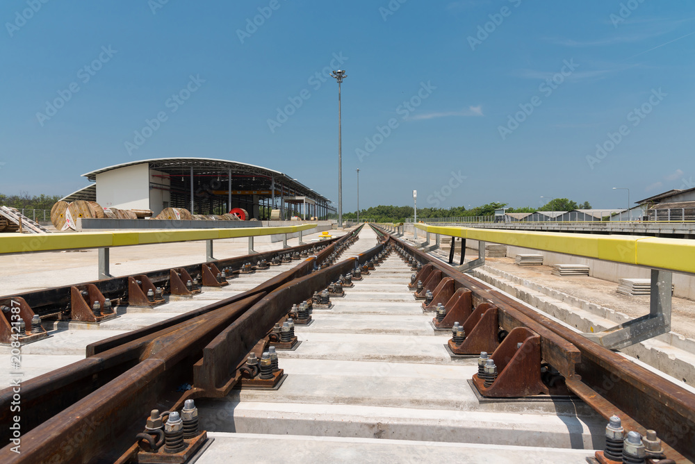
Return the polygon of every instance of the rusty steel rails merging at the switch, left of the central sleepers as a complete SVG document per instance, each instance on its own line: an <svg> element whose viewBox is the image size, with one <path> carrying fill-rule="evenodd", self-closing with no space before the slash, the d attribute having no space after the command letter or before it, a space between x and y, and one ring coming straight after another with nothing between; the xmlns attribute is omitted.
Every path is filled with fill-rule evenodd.
<svg viewBox="0 0 695 464"><path fill-rule="evenodd" d="M10 451L10 442L0 449L0 462L115 462L127 454L152 406L173 408L188 397L228 393L240 360L286 315L288 302L325 288L383 249L384 242L358 258L314 269L360 229L253 290L102 340L88 347L83 361L23 382L22 410L31 413L24 412L20 422L22 454ZM181 383L193 383L193 390L177 393ZM12 388L0 391L3 423L10 422L12 398ZM6 442L9 432L0 432Z"/></svg>

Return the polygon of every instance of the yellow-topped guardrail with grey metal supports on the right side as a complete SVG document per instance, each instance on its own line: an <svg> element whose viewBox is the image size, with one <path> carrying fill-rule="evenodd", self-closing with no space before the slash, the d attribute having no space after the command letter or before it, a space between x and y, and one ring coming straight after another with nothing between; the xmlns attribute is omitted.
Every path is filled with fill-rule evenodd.
<svg viewBox="0 0 695 464"><path fill-rule="evenodd" d="M587 338L610 349L620 349L648 340L671 330L672 272L695 275L695 242L678 238L653 238L635 235L583 235L555 232L509 231L502 229L473 229L452 226L414 224L425 231L427 240L420 244L423 251L439 247L441 235L461 238L461 265L465 272L485 263L485 243L512 245L553 253L607 260L651 269L649 314L638 317L599 333L586 333ZM430 235L436 235L430 245ZM417 235L415 235L417 239ZM477 240L478 258L464 264L466 240ZM449 263L453 260L452 242Z"/></svg>

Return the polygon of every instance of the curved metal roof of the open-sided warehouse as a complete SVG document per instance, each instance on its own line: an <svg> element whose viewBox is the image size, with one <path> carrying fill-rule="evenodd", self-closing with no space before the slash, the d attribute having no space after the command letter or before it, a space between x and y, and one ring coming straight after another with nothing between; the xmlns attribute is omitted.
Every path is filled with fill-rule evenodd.
<svg viewBox="0 0 695 464"><path fill-rule="evenodd" d="M324 197L322 194L316 192L316 190L307 187L303 183L293 179L291 176L288 176L287 174L275 171L275 169L268 169L267 167L255 166L247 163L239 163L238 161L219 160L215 158L153 158L149 160L137 160L130 161L129 163L121 163L119 165L102 167L101 169L96 169L95 171L82 174L82 176L86 177L90 181L96 181L97 174L113 171L114 169L120 169L121 167L141 165L144 163L148 163L150 169L158 169L164 172L166 172L167 170L188 169L190 167L193 167L194 169L231 169L231 171L234 173L243 172L248 174L256 174L259 176L268 176L269 178L275 178L276 182L280 182L286 187L289 187L300 194L315 197L317 199L322 199L328 202L331 201L329 198Z"/></svg>

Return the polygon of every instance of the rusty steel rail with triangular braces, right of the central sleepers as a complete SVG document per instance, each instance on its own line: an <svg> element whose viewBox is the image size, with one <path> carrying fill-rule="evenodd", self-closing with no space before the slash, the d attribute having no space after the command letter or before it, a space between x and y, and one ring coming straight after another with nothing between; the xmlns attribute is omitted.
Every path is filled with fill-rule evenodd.
<svg viewBox="0 0 695 464"><path fill-rule="evenodd" d="M565 376L571 392L600 415L608 418L617 414L626 429L639 433L656 430L667 457L676 463L695 459L694 394L407 242L391 237L390 240L407 249L423 265L439 270L440 281L445 277L454 279L457 288L473 292L474 301L496 305L502 329L511 331L516 326L526 326L541 335L543 359Z"/></svg>

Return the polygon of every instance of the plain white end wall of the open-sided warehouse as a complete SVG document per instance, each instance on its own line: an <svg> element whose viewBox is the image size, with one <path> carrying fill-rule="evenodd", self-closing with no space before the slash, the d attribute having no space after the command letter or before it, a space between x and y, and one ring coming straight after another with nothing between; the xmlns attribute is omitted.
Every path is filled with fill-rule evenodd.
<svg viewBox="0 0 695 464"><path fill-rule="evenodd" d="M97 174L97 203L103 208L149 209L149 164Z"/></svg>

